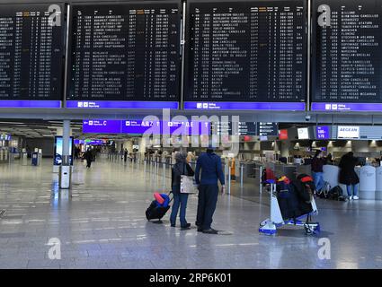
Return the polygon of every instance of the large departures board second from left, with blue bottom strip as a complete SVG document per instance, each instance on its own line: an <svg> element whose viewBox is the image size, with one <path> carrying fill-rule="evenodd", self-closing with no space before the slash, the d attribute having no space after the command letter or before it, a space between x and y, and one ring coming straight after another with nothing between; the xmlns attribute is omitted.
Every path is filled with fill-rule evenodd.
<svg viewBox="0 0 382 287"><path fill-rule="evenodd" d="M73 5L67 108L178 109L180 2Z"/></svg>

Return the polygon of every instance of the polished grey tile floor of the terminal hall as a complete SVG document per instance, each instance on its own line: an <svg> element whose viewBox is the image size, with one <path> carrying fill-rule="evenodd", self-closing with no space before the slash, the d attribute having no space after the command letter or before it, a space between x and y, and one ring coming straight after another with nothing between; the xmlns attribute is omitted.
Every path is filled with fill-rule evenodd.
<svg viewBox="0 0 382 287"><path fill-rule="evenodd" d="M235 183L232 196L219 196L213 223L233 234L209 235L170 227L169 214L164 224L147 222L145 210L153 192L168 190L168 174L105 158L86 170L78 161L69 193L58 190L51 160L39 167L1 164L0 268L382 267L382 202L321 200L319 236L286 227L270 237L258 232L269 197ZM191 223L196 207L191 196ZM49 259L52 238L61 243L61 259ZM330 240L330 259L318 256L320 238Z"/></svg>

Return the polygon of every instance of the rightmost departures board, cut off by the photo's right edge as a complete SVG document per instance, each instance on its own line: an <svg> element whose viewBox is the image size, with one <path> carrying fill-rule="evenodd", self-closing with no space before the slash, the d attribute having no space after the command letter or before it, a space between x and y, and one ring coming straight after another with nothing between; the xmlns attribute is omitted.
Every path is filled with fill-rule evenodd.
<svg viewBox="0 0 382 287"><path fill-rule="evenodd" d="M313 1L312 110L382 111L382 2Z"/></svg>

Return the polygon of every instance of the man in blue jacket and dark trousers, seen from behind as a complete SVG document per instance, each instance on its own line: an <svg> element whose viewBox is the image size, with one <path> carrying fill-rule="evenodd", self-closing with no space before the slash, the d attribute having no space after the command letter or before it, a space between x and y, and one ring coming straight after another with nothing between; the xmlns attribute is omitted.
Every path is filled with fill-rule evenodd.
<svg viewBox="0 0 382 287"><path fill-rule="evenodd" d="M199 185L198 214L196 218L198 231L217 234L218 230L212 229L211 223L218 202L218 180L222 186L221 192L224 194L225 178L221 167L221 159L213 151L211 145L209 145L207 152L201 153L198 161L196 161L195 180L196 184Z"/></svg>

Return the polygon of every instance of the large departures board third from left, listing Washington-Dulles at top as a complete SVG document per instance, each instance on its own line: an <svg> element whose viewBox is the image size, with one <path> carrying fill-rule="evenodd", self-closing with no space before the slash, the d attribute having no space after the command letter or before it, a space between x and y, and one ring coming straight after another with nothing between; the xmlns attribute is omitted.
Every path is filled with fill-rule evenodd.
<svg viewBox="0 0 382 287"><path fill-rule="evenodd" d="M306 109L306 1L188 1L184 109Z"/></svg>

